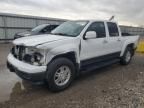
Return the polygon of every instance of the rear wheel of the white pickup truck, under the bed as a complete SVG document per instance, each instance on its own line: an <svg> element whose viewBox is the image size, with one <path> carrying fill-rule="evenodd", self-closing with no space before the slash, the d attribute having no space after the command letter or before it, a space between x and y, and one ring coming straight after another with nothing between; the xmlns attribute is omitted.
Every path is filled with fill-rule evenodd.
<svg viewBox="0 0 144 108"><path fill-rule="evenodd" d="M128 58L128 56L129 56L129 58ZM132 56L133 56L132 48L127 47L125 52L124 52L124 55L121 57L120 64L121 65L128 65L131 62Z"/></svg>

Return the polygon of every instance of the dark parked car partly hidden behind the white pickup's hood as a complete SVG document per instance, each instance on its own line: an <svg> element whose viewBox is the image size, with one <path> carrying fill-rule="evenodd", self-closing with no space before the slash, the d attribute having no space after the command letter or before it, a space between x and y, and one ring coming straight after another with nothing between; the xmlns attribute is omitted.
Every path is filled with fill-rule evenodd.
<svg viewBox="0 0 144 108"><path fill-rule="evenodd" d="M14 39L26 37L26 36L32 36L32 35L40 35L40 34L48 34L53 29L55 29L57 26L56 24L42 24L35 28L33 28L30 31L22 32L22 33L16 33L14 36Z"/></svg>

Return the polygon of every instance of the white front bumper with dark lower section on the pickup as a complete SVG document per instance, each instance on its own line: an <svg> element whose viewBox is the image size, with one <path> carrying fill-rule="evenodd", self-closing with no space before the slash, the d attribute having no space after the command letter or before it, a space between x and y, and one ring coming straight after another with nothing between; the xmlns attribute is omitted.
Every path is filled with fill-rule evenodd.
<svg viewBox="0 0 144 108"><path fill-rule="evenodd" d="M12 54L8 55L7 67L19 77L32 82L39 82L45 79L46 66L34 66L17 60Z"/></svg>

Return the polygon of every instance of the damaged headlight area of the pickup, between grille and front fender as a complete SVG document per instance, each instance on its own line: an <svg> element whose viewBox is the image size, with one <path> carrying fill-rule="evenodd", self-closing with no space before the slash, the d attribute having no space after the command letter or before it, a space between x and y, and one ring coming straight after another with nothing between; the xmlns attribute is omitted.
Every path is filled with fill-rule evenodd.
<svg viewBox="0 0 144 108"><path fill-rule="evenodd" d="M27 48L24 60L30 64L41 66L45 63L45 51L35 48Z"/></svg>

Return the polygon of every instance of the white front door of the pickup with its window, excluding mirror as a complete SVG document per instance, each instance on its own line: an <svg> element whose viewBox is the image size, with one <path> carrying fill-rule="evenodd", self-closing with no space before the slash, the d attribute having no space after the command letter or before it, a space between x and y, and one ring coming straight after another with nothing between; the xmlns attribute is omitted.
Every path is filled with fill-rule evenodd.
<svg viewBox="0 0 144 108"><path fill-rule="evenodd" d="M104 22L92 23L86 32L95 31L97 37L81 41L80 60L86 61L106 54L106 29ZM86 33L85 33L86 34Z"/></svg>

